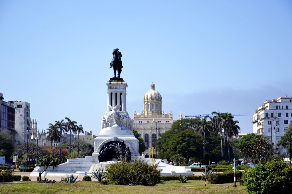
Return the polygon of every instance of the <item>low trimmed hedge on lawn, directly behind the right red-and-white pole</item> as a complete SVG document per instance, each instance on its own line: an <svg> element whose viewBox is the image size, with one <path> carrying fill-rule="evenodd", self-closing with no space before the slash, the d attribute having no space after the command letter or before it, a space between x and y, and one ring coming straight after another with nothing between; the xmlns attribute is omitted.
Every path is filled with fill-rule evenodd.
<svg viewBox="0 0 292 194"><path fill-rule="evenodd" d="M235 177L236 180L241 179L243 172L236 170ZM222 173L214 173L210 174L208 178L208 182L211 184L223 184L223 183L232 183L234 182L234 171L225 171Z"/></svg>

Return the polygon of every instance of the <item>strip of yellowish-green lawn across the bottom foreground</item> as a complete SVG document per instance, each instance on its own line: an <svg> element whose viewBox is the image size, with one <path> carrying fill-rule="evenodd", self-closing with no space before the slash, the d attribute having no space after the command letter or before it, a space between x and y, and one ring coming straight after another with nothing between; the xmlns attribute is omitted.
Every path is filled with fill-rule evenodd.
<svg viewBox="0 0 292 194"><path fill-rule="evenodd" d="M36 183L36 181L26 181ZM223 186L229 188L223 188ZM187 183L179 181L162 181L155 187L150 186L120 186L101 185L98 182L79 181L77 184L0 184L0 193L246 193L246 186L237 185L233 188L233 183L208 184L204 186L204 181L194 180Z"/></svg>

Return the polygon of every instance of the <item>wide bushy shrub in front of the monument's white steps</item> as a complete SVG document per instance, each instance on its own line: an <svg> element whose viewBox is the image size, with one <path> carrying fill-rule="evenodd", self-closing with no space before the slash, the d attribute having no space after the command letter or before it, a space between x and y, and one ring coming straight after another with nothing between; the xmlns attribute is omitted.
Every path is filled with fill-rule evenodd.
<svg viewBox="0 0 292 194"><path fill-rule="evenodd" d="M107 168L107 179L109 184L155 186L160 181L161 172L157 166L139 160L133 164L126 161L113 163Z"/></svg>

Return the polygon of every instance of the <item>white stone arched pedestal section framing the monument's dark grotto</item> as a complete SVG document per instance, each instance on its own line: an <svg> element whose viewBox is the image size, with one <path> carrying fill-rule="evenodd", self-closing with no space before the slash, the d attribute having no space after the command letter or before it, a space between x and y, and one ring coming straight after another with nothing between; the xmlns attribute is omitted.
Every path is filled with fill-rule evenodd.
<svg viewBox="0 0 292 194"><path fill-rule="evenodd" d="M129 147L131 151L131 159L136 156L140 156L139 150L139 140L134 136L133 132L128 128L119 127L114 125L112 127L107 127L101 129L98 137L94 138L94 152L92 156L98 156L102 146L105 143L111 141L124 141L124 143Z"/></svg>

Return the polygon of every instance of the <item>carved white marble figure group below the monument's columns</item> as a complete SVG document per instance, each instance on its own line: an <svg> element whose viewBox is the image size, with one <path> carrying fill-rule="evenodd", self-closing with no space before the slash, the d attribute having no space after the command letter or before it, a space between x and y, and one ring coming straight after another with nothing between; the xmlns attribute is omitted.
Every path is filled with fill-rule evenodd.
<svg viewBox="0 0 292 194"><path fill-rule="evenodd" d="M121 105L117 105L112 107L111 105L107 105L111 111L105 112L100 118L101 128L112 127L113 125L118 125L120 127L125 127L130 130L133 129L133 121L128 114L120 113L117 110L121 107Z"/></svg>

